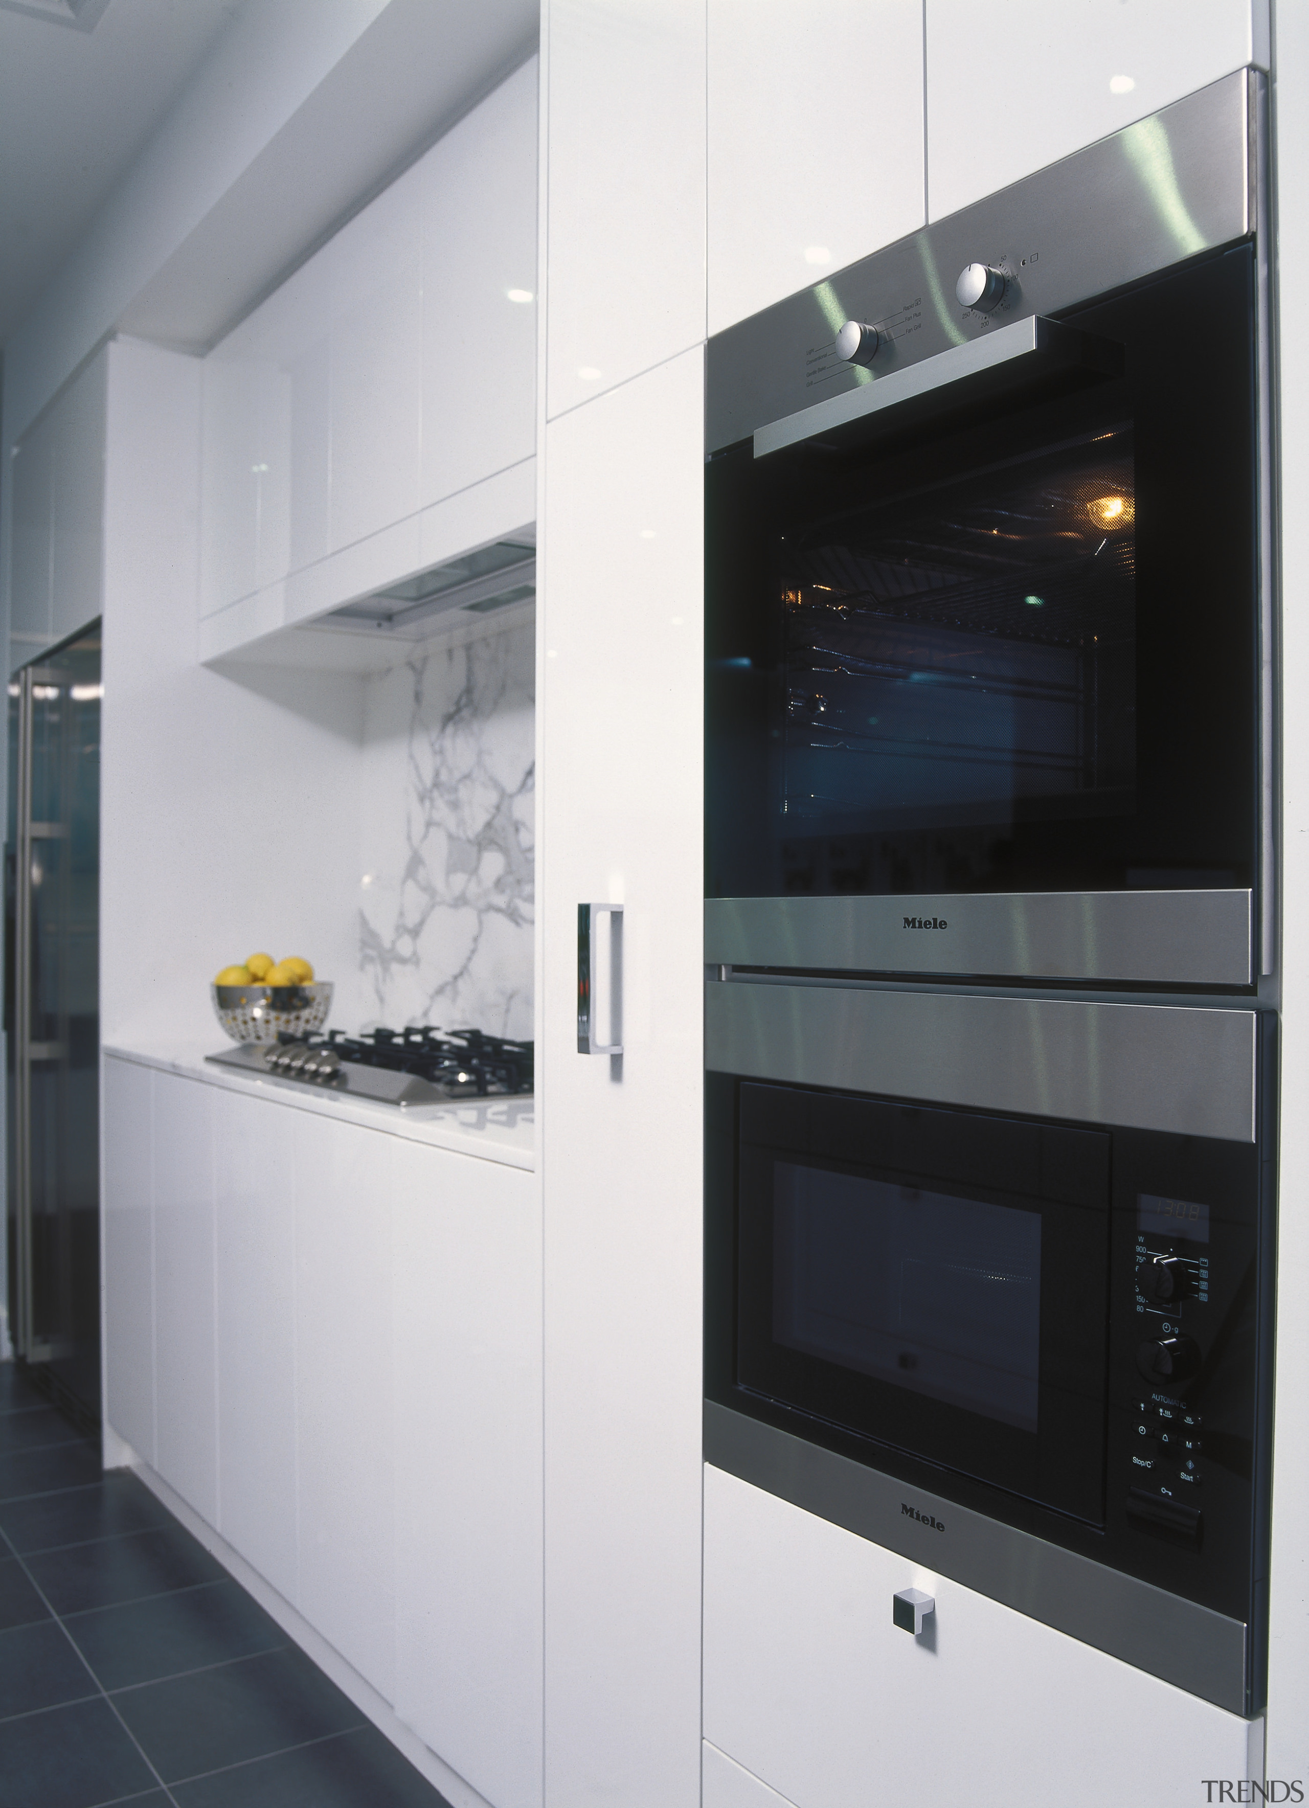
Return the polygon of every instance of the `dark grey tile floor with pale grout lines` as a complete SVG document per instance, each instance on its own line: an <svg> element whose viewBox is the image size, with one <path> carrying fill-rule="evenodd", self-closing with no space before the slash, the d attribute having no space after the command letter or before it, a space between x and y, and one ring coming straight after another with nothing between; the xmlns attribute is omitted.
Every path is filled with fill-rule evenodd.
<svg viewBox="0 0 1309 1808"><path fill-rule="evenodd" d="M4 1808L448 1808L134 1475L0 1363Z"/></svg>

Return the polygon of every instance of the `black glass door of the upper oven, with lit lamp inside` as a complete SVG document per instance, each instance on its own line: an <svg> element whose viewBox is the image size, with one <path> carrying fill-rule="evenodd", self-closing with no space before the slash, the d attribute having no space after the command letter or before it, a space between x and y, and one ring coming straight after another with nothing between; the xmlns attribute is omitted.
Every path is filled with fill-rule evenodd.
<svg viewBox="0 0 1309 1808"><path fill-rule="evenodd" d="M1253 297L1238 246L1067 316L1123 374L709 461L711 897L1253 884Z"/></svg>

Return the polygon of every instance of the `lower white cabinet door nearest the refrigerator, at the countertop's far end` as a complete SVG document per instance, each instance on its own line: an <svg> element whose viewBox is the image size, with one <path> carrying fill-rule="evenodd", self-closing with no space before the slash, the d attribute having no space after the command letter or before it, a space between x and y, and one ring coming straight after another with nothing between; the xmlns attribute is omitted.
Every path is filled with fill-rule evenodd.
<svg viewBox="0 0 1309 1808"><path fill-rule="evenodd" d="M154 1074L105 1058L105 1417L154 1464Z"/></svg>

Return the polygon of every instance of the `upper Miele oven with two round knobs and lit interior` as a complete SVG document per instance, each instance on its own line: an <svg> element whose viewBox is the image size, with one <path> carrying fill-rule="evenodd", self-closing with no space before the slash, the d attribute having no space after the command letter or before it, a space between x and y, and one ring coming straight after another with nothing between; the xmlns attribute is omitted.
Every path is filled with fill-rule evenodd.
<svg viewBox="0 0 1309 1808"><path fill-rule="evenodd" d="M1262 971L1258 81L709 342L707 960Z"/></svg>

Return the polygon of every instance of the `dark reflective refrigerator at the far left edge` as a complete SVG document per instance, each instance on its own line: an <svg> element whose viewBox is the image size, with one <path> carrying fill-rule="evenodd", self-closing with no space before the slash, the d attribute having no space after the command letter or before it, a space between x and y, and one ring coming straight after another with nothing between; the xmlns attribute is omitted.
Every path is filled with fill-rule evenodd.
<svg viewBox="0 0 1309 1808"><path fill-rule="evenodd" d="M14 1354L99 1419L99 624L9 682L7 1273Z"/></svg>

